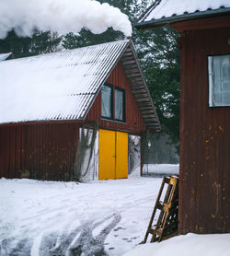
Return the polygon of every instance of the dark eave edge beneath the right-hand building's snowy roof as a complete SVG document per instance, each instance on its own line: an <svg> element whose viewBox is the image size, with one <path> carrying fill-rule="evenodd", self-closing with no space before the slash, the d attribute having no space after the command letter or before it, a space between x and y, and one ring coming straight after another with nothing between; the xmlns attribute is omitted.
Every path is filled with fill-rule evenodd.
<svg viewBox="0 0 230 256"><path fill-rule="evenodd" d="M162 17L158 19L152 19L149 21L142 21L140 23L135 23L134 27L136 27L137 29L148 29L151 27L161 27L166 25L167 23L170 24L178 21L185 21L185 20L202 18L202 17L214 17L214 16L225 15L229 13L230 13L230 8L208 10L208 11L196 12L191 14L183 14L178 16Z"/></svg>

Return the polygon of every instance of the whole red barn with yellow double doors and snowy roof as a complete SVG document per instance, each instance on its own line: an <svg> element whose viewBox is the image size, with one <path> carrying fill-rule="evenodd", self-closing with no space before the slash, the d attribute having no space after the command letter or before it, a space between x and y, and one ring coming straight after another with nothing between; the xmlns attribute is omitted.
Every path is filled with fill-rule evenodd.
<svg viewBox="0 0 230 256"><path fill-rule="evenodd" d="M0 81L1 177L140 175L140 135L160 124L132 41L3 61Z"/></svg>

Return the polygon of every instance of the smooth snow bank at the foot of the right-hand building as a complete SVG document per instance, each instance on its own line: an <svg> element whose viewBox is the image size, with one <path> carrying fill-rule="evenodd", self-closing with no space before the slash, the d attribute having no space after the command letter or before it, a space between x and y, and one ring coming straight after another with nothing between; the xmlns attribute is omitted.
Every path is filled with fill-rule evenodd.
<svg viewBox="0 0 230 256"><path fill-rule="evenodd" d="M123 256L229 256L229 241L230 234L188 234L160 243L140 245Z"/></svg>

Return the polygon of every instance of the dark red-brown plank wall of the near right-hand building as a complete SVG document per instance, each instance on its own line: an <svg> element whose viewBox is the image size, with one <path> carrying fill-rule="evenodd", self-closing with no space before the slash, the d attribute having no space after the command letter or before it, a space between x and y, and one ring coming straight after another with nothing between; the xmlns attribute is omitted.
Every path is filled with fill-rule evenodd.
<svg viewBox="0 0 230 256"><path fill-rule="evenodd" d="M181 49L179 229L230 232L230 107L209 108L207 56L230 53L230 28L187 31Z"/></svg>

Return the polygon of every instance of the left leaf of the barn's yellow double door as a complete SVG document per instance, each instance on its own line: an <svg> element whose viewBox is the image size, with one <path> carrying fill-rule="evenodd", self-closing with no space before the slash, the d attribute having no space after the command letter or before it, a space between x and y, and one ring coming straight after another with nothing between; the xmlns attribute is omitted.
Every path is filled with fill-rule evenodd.
<svg viewBox="0 0 230 256"><path fill-rule="evenodd" d="M99 180L116 179L115 132L99 130Z"/></svg>

